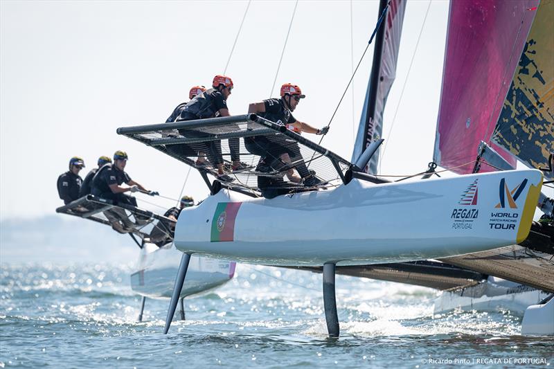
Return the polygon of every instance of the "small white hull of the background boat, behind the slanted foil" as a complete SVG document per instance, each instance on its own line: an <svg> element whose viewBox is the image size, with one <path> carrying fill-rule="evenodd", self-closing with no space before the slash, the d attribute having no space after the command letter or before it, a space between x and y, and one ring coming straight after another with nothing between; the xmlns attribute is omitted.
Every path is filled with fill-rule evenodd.
<svg viewBox="0 0 554 369"><path fill-rule="evenodd" d="M138 271L131 275L131 287L141 296L170 298L179 269L181 251L171 244L159 249L145 244L141 250ZM190 259L181 298L213 289L233 278L235 262L194 257Z"/></svg>

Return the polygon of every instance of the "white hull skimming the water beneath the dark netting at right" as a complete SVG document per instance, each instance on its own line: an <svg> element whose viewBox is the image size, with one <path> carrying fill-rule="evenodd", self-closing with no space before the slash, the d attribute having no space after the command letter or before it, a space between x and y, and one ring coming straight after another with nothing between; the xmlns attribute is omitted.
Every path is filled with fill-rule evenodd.
<svg viewBox="0 0 554 369"><path fill-rule="evenodd" d="M463 311L510 312L523 316L530 305L535 305L548 294L533 287L520 285L501 278L489 277L486 282L463 291L443 292L436 300L434 314L454 309Z"/></svg>

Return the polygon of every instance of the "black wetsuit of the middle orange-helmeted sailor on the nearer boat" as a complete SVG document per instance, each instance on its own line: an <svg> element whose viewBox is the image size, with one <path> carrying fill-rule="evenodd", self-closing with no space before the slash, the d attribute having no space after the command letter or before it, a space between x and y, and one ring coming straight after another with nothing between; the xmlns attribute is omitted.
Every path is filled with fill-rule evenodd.
<svg viewBox="0 0 554 369"><path fill-rule="evenodd" d="M200 109L200 105L202 105L203 102L206 102L206 106ZM227 102L223 98L223 94L216 89L208 89L208 91L204 91L188 102L181 112L178 121L216 118L220 116L220 109L227 109ZM179 133L186 137L209 136L204 132L198 132L194 129L179 129ZM211 161L213 165L223 163L221 141L208 141L206 143L192 144L192 146L198 151L205 152L208 156L208 160ZM229 150L231 151L231 161L240 161L240 139L238 137L229 138Z"/></svg>

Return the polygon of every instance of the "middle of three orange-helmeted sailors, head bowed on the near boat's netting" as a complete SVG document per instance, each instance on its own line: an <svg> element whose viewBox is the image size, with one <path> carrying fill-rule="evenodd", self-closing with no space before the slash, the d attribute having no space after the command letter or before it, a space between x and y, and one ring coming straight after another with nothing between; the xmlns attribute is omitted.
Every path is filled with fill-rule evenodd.
<svg viewBox="0 0 554 369"><path fill-rule="evenodd" d="M231 116L227 108L227 99L231 96L233 89L233 80L226 75L216 75L213 78L212 89L204 91L193 100L190 100L184 107L179 120L195 120L204 118L216 118L218 116ZM205 137L204 132L197 132L193 129L180 129L179 132L188 137ZM206 142L206 154L209 161L217 168L217 179L223 182L233 181L224 172L224 162L222 156L221 141ZM247 166L240 162L240 139L229 138L229 150L231 151L231 161L233 171L244 170Z"/></svg>

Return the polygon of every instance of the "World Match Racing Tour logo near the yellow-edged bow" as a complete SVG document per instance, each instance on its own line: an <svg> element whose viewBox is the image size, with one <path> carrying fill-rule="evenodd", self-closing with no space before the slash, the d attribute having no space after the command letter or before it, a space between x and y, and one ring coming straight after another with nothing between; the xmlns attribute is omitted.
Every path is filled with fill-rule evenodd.
<svg viewBox="0 0 554 369"><path fill-rule="evenodd" d="M517 209L517 204L515 201L519 198L521 193L524 192L525 186L527 185L527 179L524 179L515 186L515 188L508 188L506 179L500 180L499 186L499 197L500 202L494 208L497 209ZM490 229L510 229L515 230L515 225L517 224L517 219L519 213L513 211L494 211L490 214L489 226Z"/></svg>

